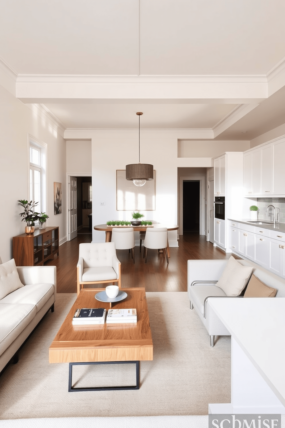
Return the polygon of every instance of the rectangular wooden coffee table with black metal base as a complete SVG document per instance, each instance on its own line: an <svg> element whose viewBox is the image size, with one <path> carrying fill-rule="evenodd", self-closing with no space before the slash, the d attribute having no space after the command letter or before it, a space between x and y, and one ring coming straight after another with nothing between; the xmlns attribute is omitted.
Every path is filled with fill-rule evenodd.
<svg viewBox="0 0 285 428"><path fill-rule="evenodd" d="M137 323L72 325L77 308L110 308L110 303L95 299L95 294L105 288L82 289L49 349L50 363L69 363L68 391L107 389L139 389L139 362L153 360L153 339L150 330L147 300L144 288L126 288L127 297L112 308L135 308ZM82 364L134 363L135 386L72 387L72 366Z"/></svg>

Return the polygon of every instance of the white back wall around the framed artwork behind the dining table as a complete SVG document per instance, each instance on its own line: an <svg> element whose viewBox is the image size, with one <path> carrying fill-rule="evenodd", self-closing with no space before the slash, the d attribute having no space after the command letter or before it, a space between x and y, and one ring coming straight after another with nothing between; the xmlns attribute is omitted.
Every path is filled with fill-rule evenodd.
<svg viewBox="0 0 285 428"><path fill-rule="evenodd" d="M177 139L162 131L141 131L141 163L156 170L156 210L142 211L159 223L177 224ZM92 137L92 221L131 220L131 211L116 210L116 170L138 163L138 132L98 131ZM105 202L101 206L100 202ZM177 246L177 232L169 232L169 244ZM93 241L105 240L104 232L93 231Z"/></svg>

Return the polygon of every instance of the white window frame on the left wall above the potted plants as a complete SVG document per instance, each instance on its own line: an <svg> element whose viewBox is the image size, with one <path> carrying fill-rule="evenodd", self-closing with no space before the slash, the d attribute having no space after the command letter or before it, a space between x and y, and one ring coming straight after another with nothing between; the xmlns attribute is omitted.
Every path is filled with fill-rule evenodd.
<svg viewBox="0 0 285 428"><path fill-rule="evenodd" d="M40 165L36 165L30 162L30 147L39 150L40 152ZM41 204L36 205L35 211L47 213L47 144L41 141L38 141L36 138L28 134L28 199L29 201L33 200L33 195L31 195L31 185L30 185L30 169L38 170L41 173ZM37 202L37 201L35 201ZM38 222L35 223L35 226L38 227Z"/></svg>

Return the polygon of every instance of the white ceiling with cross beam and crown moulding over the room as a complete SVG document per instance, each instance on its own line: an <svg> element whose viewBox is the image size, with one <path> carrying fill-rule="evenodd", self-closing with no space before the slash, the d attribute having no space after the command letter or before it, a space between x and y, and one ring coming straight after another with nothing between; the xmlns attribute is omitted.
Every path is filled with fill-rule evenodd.
<svg viewBox="0 0 285 428"><path fill-rule="evenodd" d="M285 123L284 0L12 0L0 10L0 58L18 98L65 128L137 128L142 111L141 128L250 140Z"/></svg>

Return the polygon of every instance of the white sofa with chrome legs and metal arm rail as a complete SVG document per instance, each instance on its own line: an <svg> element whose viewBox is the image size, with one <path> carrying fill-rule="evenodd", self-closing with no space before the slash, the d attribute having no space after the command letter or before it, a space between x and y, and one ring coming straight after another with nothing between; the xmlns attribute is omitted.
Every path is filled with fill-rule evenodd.
<svg viewBox="0 0 285 428"><path fill-rule="evenodd" d="M261 268L250 260L236 260L243 266L252 266L252 275L256 276L265 285L277 289L276 297L285 297L285 279L277 276L268 270ZM220 321L220 319L207 305L210 298L241 298L227 296L226 293L219 288L217 281L226 268L228 260L188 260L188 297L190 300L190 308L196 309L201 321L210 335L210 344L214 346L215 336L230 336L229 331Z"/></svg>

